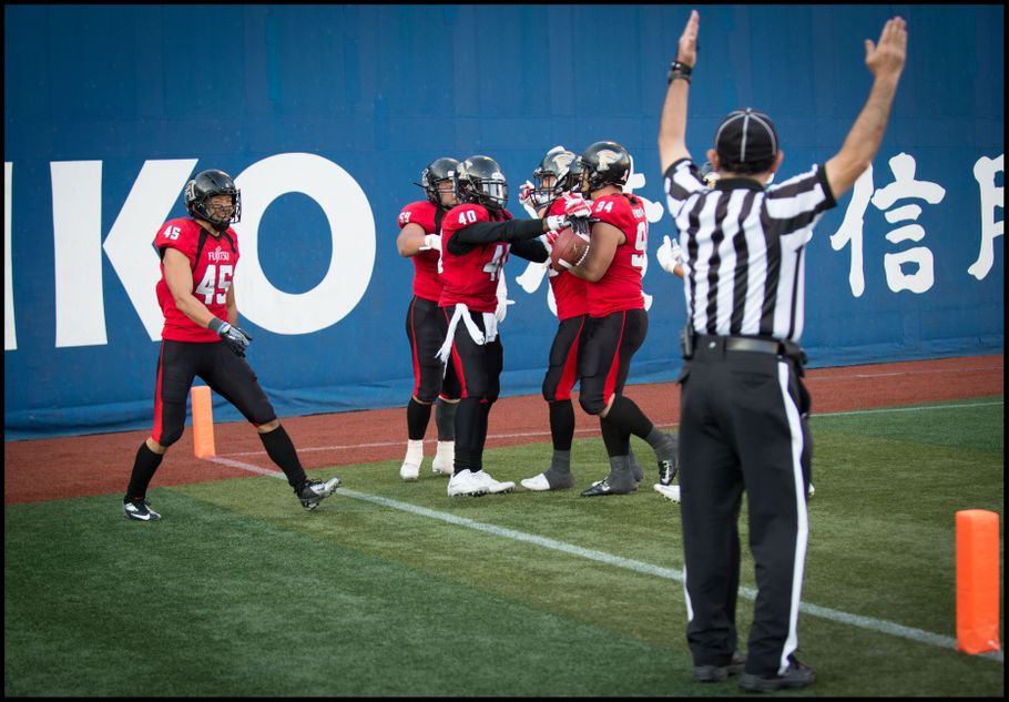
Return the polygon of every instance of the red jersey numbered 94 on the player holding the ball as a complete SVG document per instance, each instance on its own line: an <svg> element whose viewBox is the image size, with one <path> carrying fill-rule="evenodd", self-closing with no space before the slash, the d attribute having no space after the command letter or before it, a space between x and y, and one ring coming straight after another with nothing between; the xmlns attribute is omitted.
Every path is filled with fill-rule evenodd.
<svg viewBox="0 0 1009 702"><path fill-rule="evenodd" d="M644 203L634 195L616 193L592 202L592 216L623 232L626 241L616 247L603 276L587 285L589 314L604 317L624 309L644 309L641 272L649 247L649 221Z"/></svg>

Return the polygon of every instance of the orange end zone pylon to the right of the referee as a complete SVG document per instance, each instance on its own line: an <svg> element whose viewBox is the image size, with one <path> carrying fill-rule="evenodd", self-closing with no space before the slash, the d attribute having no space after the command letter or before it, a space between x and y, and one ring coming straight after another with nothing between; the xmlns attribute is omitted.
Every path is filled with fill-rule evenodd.
<svg viewBox="0 0 1009 702"><path fill-rule="evenodd" d="M1001 650L999 516L983 509L957 512L957 649Z"/></svg>

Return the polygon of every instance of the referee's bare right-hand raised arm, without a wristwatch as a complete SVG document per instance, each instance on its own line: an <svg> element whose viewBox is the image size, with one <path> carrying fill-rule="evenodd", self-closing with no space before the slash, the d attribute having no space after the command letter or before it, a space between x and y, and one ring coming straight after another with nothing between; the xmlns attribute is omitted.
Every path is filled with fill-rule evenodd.
<svg viewBox="0 0 1009 702"><path fill-rule="evenodd" d="M835 199L846 193L867 167L873 164L883 142L890 108L897 92L897 82L907 58L907 22L900 17L887 20L879 35L879 44L865 40L865 64L875 80L865 106L852 125L844 145L825 170L827 183Z"/></svg>

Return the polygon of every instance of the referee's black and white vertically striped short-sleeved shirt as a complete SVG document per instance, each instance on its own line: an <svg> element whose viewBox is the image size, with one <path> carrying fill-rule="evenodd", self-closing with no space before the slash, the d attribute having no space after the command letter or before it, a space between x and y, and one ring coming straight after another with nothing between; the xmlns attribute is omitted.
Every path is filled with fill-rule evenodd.
<svg viewBox="0 0 1009 702"><path fill-rule="evenodd" d="M824 169L767 189L744 177L709 189L697 166L681 159L665 172L665 194L686 258L683 292L694 332L798 342L803 251L837 204Z"/></svg>

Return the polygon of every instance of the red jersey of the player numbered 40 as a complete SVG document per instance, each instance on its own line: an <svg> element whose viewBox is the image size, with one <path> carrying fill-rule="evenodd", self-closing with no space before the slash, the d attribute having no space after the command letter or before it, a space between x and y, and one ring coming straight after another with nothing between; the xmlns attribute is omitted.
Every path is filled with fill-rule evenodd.
<svg viewBox="0 0 1009 702"><path fill-rule="evenodd" d="M483 205L468 203L456 205L441 221L441 299L438 304L448 307L465 304L470 312L493 312L498 307L498 276L508 261L510 244L491 242L476 244L461 256L449 253L448 243L459 230L477 222L501 222L511 220L511 213L502 210L491 214Z"/></svg>

